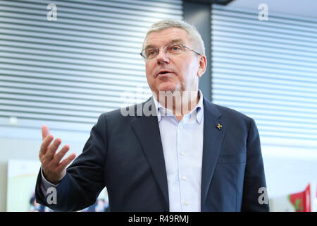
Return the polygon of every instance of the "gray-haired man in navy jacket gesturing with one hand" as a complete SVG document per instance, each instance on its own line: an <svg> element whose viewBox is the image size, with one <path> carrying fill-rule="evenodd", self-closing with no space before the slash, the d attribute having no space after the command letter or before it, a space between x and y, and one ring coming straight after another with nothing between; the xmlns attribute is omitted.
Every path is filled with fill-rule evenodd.
<svg viewBox="0 0 317 226"><path fill-rule="evenodd" d="M141 55L153 96L101 114L76 159L61 161L68 145L56 153L61 139L51 144L43 126L37 200L54 210L80 210L106 186L111 211L267 211L254 120L213 105L198 90L206 70L199 32L161 20L147 32ZM57 194L51 205L50 187Z"/></svg>

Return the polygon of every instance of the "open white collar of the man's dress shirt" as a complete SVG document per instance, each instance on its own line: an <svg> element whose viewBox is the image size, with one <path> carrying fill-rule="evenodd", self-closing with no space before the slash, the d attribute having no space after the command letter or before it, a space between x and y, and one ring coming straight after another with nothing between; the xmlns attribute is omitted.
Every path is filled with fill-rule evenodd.
<svg viewBox="0 0 317 226"><path fill-rule="evenodd" d="M189 119L191 117L196 117L197 119L197 123L200 124L201 123L201 119L204 116L204 105L203 105L203 95L201 93L201 90L198 90L198 94L199 94L199 101L196 105L196 107L194 107L194 109L192 109L191 112L189 112L188 114L185 114L184 118L185 119ZM166 116L173 116L173 112L170 109L166 109L165 107L163 107L157 100L155 96L152 96L152 99L154 100L154 105L155 105L155 109L156 109L156 115L157 115L157 119L159 120L159 122L161 121L161 119L163 117Z"/></svg>

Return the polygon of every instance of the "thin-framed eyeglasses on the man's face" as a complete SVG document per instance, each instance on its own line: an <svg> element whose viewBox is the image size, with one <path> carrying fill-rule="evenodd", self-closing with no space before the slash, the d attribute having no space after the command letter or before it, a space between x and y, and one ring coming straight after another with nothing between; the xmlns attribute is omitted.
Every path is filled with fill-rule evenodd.
<svg viewBox="0 0 317 226"><path fill-rule="evenodd" d="M170 56L181 54L182 52L185 51L185 49L188 49L200 56L198 52L194 51L193 49L189 49L184 44L178 44L178 43L166 44L166 46L164 46L163 49L165 54L168 54ZM160 49L158 47L147 47L142 50L140 55L143 57L145 61L147 61L149 59L154 59L155 57L157 57L157 55L159 55L159 52L160 52Z"/></svg>

